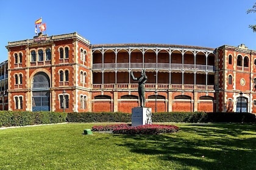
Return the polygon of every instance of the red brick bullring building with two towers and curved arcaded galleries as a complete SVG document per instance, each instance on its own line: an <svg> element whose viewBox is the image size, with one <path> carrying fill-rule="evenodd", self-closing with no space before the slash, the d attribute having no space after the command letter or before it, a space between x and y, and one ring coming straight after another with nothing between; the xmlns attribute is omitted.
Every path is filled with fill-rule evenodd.
<svg viewBox="0 0 256 170"><path fill-rule="evenodd" d="M131 112L140 101L130 71L144 69L153 111L256 112L255 51L244 46L93 45L70 33L6 47L9 110Z"/></svg>

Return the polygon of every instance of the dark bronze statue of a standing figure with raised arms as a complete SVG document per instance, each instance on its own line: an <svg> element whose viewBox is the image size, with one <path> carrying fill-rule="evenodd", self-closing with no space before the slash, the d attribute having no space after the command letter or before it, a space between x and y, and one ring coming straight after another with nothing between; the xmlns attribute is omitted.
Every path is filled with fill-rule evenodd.
<svg viewBox="0 0 256 170"><path fill-rule="evenodd" d="M145 83L148 80L145 70L141 70L141 76L138 78L134 77L132 71L130 72L130 75L132 76L132 80L138 80L138 95L140 97L140 107L145 107Z"/></svg>

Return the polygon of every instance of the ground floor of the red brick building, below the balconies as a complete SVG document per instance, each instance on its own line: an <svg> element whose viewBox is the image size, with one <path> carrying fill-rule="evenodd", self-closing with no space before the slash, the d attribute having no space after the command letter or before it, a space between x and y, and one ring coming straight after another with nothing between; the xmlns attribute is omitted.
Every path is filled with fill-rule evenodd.
<svg viewBox="0 0 256 170"><path fill-rule="evenodd" d="M146 89L145 97L146 107L152 112L256 112L256 101L247 94L234 93L235 98L217 102L215 92L205 90ZM140 106L136 89L37 89L12 92L9 99L14 102L1 103L1 110L130 113Z"/></svg>

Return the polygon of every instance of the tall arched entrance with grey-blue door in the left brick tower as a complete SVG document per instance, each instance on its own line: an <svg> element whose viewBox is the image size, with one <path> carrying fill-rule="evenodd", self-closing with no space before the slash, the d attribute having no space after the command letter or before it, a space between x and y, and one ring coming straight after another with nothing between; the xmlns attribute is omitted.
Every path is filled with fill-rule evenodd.
<svg viewBox="0 0 256 170"><path fill-rule="evenodd" d="M50 110L50 80L46 73L37 73L32 80L32 111Z"/></svg>

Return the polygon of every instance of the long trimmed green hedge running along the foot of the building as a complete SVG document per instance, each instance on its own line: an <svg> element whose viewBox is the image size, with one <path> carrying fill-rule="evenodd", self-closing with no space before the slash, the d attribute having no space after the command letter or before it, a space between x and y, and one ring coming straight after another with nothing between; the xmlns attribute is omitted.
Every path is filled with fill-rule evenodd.
<svg viewBox="0 0 256 170"><path fill-rule="evenodd" d="M124 122L132 121L132 114L122 112L11 112L0 111L0 127L26 126L63 122ZM254 114L226 112L158 112L152 113L152 122L236 122L256 123Z"/></svg>

